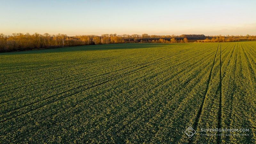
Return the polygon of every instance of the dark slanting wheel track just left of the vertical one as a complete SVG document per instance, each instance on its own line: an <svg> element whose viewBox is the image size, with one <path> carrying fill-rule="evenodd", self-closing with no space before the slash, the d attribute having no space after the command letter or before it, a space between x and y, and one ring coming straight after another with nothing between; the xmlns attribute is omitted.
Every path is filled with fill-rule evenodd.
<svg viewBox="0 0 256 144"><path fill-rule="evenodd" d="M220 43L219 43L219 45L220 45ZM212 77L212 69L213 69L214 64L215 64L215 59L216 59L216 55L217 55L218 50L219 50L219 45L218 45L218 47L217 47L217 51L216 51L216 54L215 54L215 56L214 56L212 68L211 68L211 71L210 71L210 74L209 74L209 77L208 77L208 80L207 80L207 86L206 86L206 90L205 90L205 92L204 92L204 98L203 98L203 100L202 100L202 103L201 103L201 106L200 106L200 108L199 108L199 111L198 111L198 113L197 113L197 115L196 115L195 123L193 124L193 128L194 128L195 130L197 130L197 125L198 125L198 122L199 122L199 118L200 118L200 116L201 116L202 109L203 109L203 107L204 107L205 97L206 97L206 94L207 94L208 89L209 89L210 80L211 80L211 77ZM188 143L191 144L192 142L193 142L193 139L190 138L189 141L188 141Z"/></svg>

